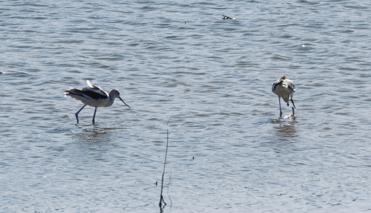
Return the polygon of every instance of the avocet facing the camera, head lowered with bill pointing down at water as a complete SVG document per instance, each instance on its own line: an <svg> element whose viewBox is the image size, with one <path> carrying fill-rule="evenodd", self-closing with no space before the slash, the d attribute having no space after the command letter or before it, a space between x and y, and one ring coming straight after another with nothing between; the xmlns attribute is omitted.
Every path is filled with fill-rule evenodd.
<svg viewBox="0 0 371 213"><path fill-rule="evenodd" d="M278 95L279 113L280 113L279 116L282 116L280 98L282 98L283 101L285 101L288 106L290 106L289 104L289 99L290 99L290 101L292 102L292 105L294 106L294 107L290 106L292 108L292 115L295 115L294 108L296 109L296 107L295 107L294 102L292 101L292 95L294 94L294 92L296 92L295 84L291 80L287 79L285 75L282 75L280 80L277 80L276 82L274 82L272 86L272 92Z"/></svg>

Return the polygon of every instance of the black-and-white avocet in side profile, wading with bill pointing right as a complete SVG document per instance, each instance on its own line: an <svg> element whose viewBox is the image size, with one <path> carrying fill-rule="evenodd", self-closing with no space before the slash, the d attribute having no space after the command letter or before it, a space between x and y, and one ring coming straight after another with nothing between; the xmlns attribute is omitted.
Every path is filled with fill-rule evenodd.
<svg viewBox="0 0 371 213"><path fill-rule="evenodd" d="M81 107L81 109L75 114L78 123L79 123L78 114L86 105L95 107L93 116L94 124L96 108L111 106L114 103L115 98L119 98L121 101L122 99L120 98L120 92L117 89L112 89L109 93L107 93L106 91L103 91L103 89L101 89L100 87L94 86L89 80L87 80L86 83L88 83L89 87L85 87L82 89L75 89L70 87L69 90L65 91L66 92L65 95L75 98L76 100L80 100L84 104ZM122 102L125 104L124 101Z"/></svg>

